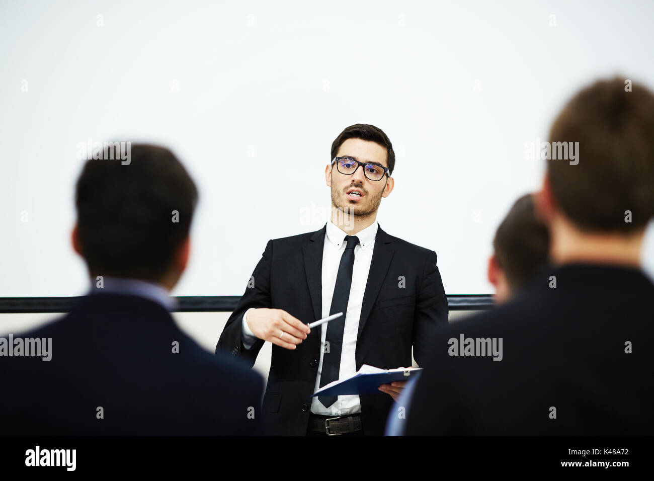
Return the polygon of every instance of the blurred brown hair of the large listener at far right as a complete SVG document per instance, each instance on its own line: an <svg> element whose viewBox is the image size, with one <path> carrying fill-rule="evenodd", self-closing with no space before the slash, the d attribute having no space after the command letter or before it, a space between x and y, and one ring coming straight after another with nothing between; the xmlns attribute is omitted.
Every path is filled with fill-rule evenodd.
<svg viewBox="0 0 654 481"><path fill-rule="evenodd" d="M625 79L584 88L552 125L551 142L579 142L579 164L547 160L561 211L588 232L630 232L654 215L654 94ZM625 222L631 211L631 222Z"/></svg>

